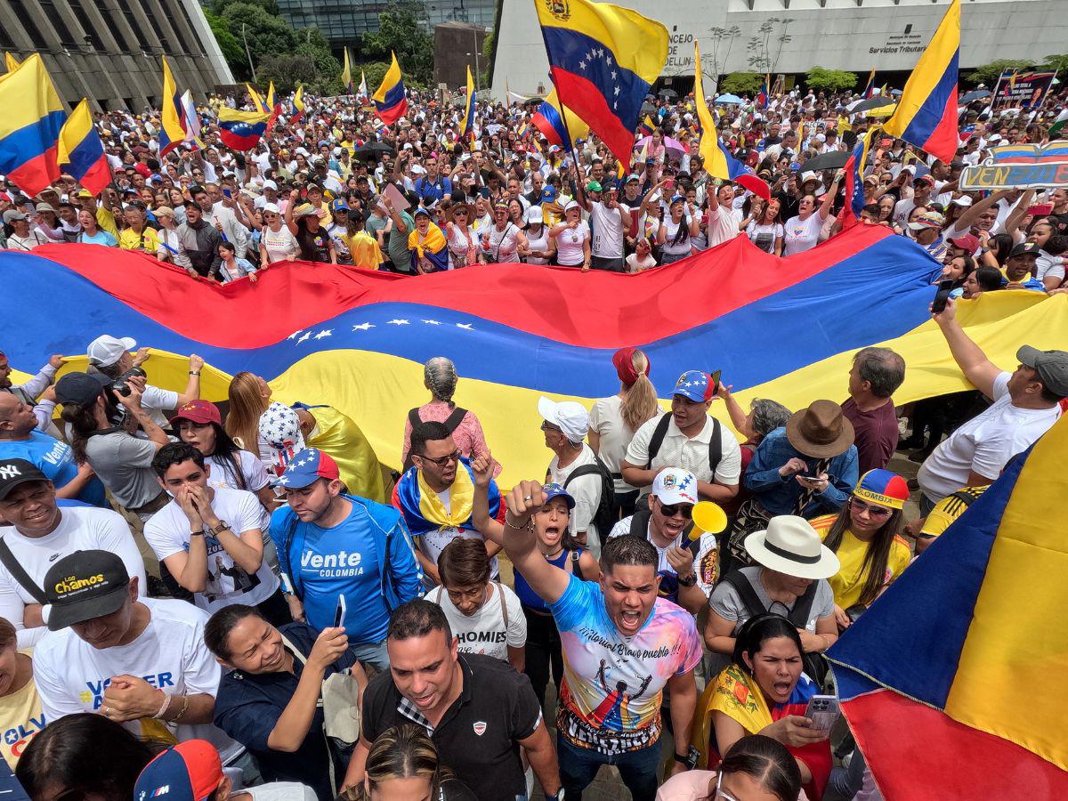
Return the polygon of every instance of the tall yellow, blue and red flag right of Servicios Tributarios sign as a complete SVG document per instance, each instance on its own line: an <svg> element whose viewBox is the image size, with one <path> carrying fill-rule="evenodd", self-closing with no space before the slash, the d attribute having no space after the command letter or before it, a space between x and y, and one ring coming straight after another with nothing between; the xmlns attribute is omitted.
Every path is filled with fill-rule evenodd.
<svg viewBox="0 0 1068 801"><path fill-rule="evenodd" d="M883 128L946 163L957 153L960 0L952 0Z"/></svg>

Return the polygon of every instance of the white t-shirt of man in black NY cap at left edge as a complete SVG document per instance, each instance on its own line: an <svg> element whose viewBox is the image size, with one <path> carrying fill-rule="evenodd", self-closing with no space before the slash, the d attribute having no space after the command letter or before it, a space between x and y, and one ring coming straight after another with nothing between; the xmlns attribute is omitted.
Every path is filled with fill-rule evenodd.
<svg viewBox="0 0 1068 801"><path fill-rule="evenodd" d="M42 587L45 575L56 562L69 556L75 551L110 551L126 566L130 578L138 579L138 594L147 592L144 578L144 561L130 534L129 525L117 512L98 509L91 506L64 506L60 513L60 524L56 531L43 537L27 537L13 525L0 528L0 536L7 544L12 554L31 579ZM22 588L7 568L0 564L0 617L14 624L18 631L18 647L28 648L43 638L48 629L37 626L22 627L26 606L36 603L33 596ZM48 622L49 607L43 610Z"/></svg>

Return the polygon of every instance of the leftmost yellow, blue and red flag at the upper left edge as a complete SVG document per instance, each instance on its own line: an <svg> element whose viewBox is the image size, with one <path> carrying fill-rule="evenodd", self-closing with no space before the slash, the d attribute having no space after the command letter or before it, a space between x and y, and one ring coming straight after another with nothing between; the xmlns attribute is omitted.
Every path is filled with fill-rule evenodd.
<svg viewBox="0 0 1068 801"><path fill-rule="evenodd" d="M0 174L31 198L60 176L57 140L66 111L37 53L0 76Z"/></svg>

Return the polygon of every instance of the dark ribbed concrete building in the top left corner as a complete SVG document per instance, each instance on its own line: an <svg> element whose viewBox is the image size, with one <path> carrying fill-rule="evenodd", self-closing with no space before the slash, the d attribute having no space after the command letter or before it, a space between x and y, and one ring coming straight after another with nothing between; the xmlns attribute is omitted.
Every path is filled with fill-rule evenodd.
<svg viewBox="0 0 1068 801"><path fill-rule="evenodd" d="M158 108L163 54L197 99L234 80L197 0L2 0L0 49L41 53L72 108Z"/></svg>

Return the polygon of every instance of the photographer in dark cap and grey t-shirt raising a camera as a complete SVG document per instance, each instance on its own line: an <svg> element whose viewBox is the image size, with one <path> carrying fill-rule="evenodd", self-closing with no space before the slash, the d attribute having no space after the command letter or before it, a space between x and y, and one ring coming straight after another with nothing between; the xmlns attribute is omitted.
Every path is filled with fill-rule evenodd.
<svg viewBox="0 0 1068 801"><path fill-rule="evenodd" d="M63 404L75 461L88 461L115 501L145 521L170 501L152 469L156 451L168 439L141 406L143 378L127 379L125 395L111 389L111 383L103 373L68 373L56 384L56 400ZM122 415L120 407L144 430L147 440L112 424Z"/></svg>

